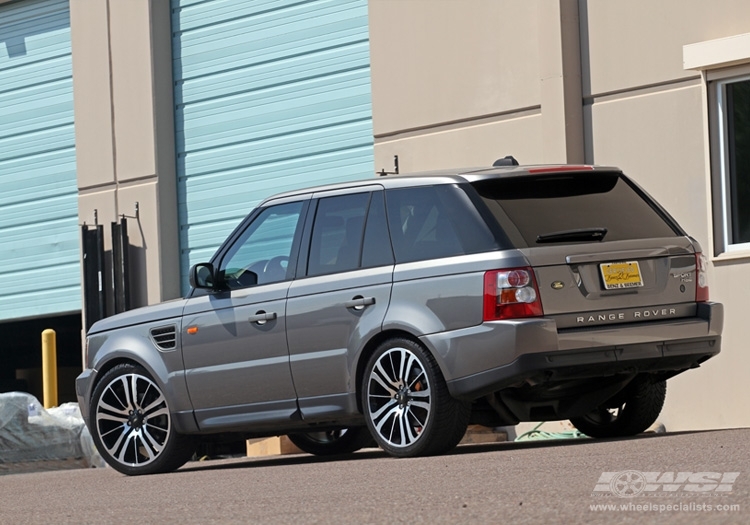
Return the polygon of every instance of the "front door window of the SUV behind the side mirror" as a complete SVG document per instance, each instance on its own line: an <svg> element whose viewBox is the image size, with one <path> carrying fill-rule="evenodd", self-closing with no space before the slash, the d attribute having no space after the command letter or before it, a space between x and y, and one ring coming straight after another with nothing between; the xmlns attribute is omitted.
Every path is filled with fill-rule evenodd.
<svg viewBox="0 0 750 525"><path fill-rule="evenodd" d="M228 288L244 288L290 278L289 258L302 206L302 202L271 206L250 223L219 267Z"/></svg>

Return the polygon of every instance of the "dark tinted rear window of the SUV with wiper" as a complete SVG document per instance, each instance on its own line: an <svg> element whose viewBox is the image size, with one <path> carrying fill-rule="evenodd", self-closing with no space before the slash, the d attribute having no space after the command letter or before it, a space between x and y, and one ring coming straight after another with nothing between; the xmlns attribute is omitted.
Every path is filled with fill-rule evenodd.
<svg viewBox="0 0 750 525"><path fill-rule="evenodd" d="M516 247L681 235L617 173L540 175L472 186Z"/></svg>

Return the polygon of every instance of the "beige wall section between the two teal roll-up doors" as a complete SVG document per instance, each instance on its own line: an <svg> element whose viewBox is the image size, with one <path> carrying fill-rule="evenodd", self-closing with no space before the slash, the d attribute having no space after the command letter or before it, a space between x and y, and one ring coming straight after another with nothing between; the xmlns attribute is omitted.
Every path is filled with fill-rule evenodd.
<svg viewBox="0 0 750 525"><path fill-rule="evenodd" d="M79 219L128 218L132 302L177 297L169 2L71 0ZM139 214L136 215L136 203Z"/></svg>

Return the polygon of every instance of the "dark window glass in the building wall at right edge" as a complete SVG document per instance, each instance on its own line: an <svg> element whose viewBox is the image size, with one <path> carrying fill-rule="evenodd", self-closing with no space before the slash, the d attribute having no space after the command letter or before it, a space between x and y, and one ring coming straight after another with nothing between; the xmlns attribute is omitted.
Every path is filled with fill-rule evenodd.
<svg viewBox="0 0 750 525"><path fill-rule="evenodd" d="M750 79L723 85L722 148L727 244L750 243Z"/></svg>

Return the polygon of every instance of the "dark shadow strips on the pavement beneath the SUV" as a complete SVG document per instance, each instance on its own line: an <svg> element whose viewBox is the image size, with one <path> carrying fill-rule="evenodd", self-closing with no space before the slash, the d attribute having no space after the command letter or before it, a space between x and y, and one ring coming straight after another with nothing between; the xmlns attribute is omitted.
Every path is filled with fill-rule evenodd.
<svg viewBox="0 0 750 525"><path fill-rule="evenodd" d="M625 438L608 438L608 439L591 439L570 438L570 439L539 439L535 441L504 441L496 443L478 443L458 446L443 456L454 456L464 454L482 454L485 452L513 451L535 448L553 448L553 447L586 447L604 442L617 441L634 441L646 439L669 439L670 437L703 434L707 432L720 432L720 430L689 430L669 433L644 433L637 436ZM265 457L237 457L231 459L216 459L208 461L192 461L175 472L196 472L201 470L229 470L229 469L249 469L265 468L279 466L306 465L314 463L328 463L341 461L366 461L369 459L387 458L388 454L380 449L368 448L355 452L353 454L340 454L331 456L313 456L309 454L289 454L285 456L265 456Z"/></svg>

